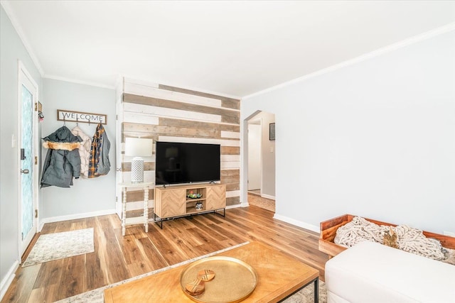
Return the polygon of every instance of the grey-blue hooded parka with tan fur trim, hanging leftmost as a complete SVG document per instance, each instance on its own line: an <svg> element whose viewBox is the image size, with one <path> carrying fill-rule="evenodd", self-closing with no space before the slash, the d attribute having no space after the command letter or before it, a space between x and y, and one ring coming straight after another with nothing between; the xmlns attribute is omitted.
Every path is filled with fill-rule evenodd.
<svg viewBox="0 0 455 303"><path fill-rule="evenodd" d="M45 156L41 187L70 187L73 177L80 177L80 156L77 150L81 139L74 136L66 126L43 138L44 148L48 148Z"/></svg>

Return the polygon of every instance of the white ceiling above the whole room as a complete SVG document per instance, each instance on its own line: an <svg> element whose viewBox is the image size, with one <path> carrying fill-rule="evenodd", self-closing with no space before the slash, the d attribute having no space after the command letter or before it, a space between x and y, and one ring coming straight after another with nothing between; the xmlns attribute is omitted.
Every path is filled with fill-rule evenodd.
<svg viewBox="0 0 455 303"><path fill-rule="evenodd" d="M43 77L245 97L455 22L455 1L1 1Z"/></svg>

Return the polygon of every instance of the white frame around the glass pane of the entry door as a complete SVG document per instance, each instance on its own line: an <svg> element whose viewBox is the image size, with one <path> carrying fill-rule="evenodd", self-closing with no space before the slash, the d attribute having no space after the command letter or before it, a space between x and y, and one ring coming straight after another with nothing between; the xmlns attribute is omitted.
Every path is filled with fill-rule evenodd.
<svg viewBox="0 0 455 303"><path fill-rule="evenodd" d="M35 109L32 109L32 116L33 116L33 134L32 134L32 145L33 145L33 158L36 157L37 161L36 164L33 164L33 175L32 175L32 190L33 190L33 209L36 210L36 215L33 216L33 227L32 231L34 231L33 236L38 232L38 171L39 171L39 165L38 163L39 158L38 158L38 94L39 94L39 87L36 81L31 77L31 74L28 72L26 67L23 65L21 60L18 60L18 84L17 84L17 92L18 92L18 123L17 123L17 169L16 169L16 175L17 175L17 182L18 182L18 260L19 263L21 263L22 255L27 249L28 245L30 244L33 236L28 237L26 241L23 241L22 239L22 187L21 187L21 141L22 141L22 131L21 131L21 119L22 119L22 96L21 96L21 91L22 91L22 84L24 82L29 82L28 84L31 84L33 86L33 102L32 106L35 106ZM33 160L32 160L33 162ZM32 233L31 233L32 234ZM24 245L23 243L26 243Z"/></svg>

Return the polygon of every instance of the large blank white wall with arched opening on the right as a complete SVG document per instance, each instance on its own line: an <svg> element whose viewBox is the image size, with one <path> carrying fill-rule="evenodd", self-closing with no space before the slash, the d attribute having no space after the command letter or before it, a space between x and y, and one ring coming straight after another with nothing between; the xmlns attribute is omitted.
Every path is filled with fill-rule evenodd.
<svg viewBox="0 0 455 303"><path fill-rule="evenodd" d="M451 31L242 99L275 114L277 218L455 231L454 54Z"/></svg>

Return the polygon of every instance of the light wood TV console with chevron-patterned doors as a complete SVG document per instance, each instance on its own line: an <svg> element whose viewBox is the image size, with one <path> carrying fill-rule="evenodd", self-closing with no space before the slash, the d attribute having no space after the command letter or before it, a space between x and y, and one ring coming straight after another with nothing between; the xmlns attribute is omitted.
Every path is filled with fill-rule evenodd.
<svg viewBox="0 0 455 303"><path fill-rule="evenodd" d="M200 194L200 198L191 199L188 194ZM154 219L157 224L163 221L181 216L203 214L226 209L226 185L225 184L186 184L172 187L155 187ZM196 209L196 203L202 204ZM156 216L159 219L156 219Z"/></svg>

